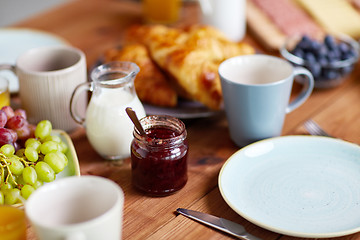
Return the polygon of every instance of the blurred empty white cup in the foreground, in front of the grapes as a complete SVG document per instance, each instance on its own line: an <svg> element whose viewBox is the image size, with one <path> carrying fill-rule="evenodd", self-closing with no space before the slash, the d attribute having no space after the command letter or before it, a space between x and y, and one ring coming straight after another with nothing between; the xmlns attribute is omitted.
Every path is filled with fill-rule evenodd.
<svg viewBox="0 0 360 240"><path fill-rule="evenodd" d="M47 183L30 195L25 213L39 240L119 240L124 193L115 182L74 176Z"/></svg>

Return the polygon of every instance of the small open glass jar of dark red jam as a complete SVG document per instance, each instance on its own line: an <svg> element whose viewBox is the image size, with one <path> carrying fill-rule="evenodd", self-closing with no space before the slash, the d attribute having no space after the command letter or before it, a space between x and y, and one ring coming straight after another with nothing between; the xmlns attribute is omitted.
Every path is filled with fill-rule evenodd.
<svg viewBox="0 0 360 240"><path fill-rule="evenodd" d="M134 130L132 184L152 196L166 196L180 190L187 182L185 124L170 116L147 116L140 123L146 136Z"/></svg>

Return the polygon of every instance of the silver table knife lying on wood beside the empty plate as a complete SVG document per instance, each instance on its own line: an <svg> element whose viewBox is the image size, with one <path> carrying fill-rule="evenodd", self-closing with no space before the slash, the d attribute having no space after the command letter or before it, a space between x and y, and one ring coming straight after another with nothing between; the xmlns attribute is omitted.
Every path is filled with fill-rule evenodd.
<svg viewBox="0 0 360 240"><path fill-rule="evenodd" d="M178 208L176 209L176 211L188 218L206 224L210 227L216 228L220 231L226 232L234 237L245 240L261 240L261 238L255 237L254 235L246 232L245 228L240 224L234 223L224 218L219 218L207 213L202 213L184 208Z"/></svg>

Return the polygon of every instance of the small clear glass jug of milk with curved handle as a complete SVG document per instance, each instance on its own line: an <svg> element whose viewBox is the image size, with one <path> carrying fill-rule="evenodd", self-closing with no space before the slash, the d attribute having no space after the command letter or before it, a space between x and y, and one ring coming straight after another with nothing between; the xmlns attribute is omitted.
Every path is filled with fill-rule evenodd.
<svg viewBox="0 0 360 240"><path fill-rule="evenodd" d="M130 156L134 125L125 108L131 107L138 118L146 115L134 87L139 70L132 62L100 65L92 70L92 81L78 85L71 97L71 116L85 127L90 144L105 159ZM92 95L83 118L76 106L79 96L87 91Z"/></svg>

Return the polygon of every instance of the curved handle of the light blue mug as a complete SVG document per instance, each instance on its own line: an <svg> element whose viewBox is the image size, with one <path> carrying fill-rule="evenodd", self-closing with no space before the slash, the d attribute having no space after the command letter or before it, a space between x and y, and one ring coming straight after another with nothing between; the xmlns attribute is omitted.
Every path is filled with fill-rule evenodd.
<svg viewBox="0 0 360 240"><path fill-rule="evenodd" d="M303 82L304 86L299 96L289 103L285 109L286 113L290 113L300 107L300 105L302 105L310 97L310 94L314 89L314 78L309 70L303 67L295 67L293 77L295 78L297 75L305 76L305 81Z"/></svg>

